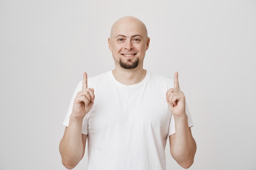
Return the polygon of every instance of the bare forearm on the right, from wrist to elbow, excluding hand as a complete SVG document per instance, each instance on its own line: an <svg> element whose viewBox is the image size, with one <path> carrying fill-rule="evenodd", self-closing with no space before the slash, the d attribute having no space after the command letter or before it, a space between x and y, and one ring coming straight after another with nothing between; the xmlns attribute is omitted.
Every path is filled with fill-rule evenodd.
<svg viewBox="0 0 256 170"><path fill-rule="evenodd" d="M188 126L187 116L175 117L175 138L172 142L171 154L183 168L193 164L196 144Z"/></svg>

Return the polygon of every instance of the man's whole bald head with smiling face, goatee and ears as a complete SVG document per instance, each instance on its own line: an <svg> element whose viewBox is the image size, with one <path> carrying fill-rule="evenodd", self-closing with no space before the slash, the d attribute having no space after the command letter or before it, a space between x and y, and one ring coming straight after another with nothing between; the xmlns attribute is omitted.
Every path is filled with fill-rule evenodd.
<svg viewBox="0 0 256 170"><path fill-rule="evenodd" d="M119 19L112 26L108 45L116 68L142 68L149 45L146 26L134 17Z"/></svg>

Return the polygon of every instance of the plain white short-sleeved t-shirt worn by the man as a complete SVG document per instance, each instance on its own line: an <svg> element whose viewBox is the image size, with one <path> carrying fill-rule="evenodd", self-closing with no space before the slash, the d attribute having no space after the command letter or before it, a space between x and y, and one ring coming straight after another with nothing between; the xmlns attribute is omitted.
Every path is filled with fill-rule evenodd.
<svg viewBox="0 0 256 170"><path fill-rule="evenodd" d="M175 133L166 91L173 80L150 73L134 85L119 83L112 71L88 78L94 105L83 120L89 170L165 170L167 137ZM68 126L79 82L63 124ZM189 127L193 122L186 107Z"/></svg>

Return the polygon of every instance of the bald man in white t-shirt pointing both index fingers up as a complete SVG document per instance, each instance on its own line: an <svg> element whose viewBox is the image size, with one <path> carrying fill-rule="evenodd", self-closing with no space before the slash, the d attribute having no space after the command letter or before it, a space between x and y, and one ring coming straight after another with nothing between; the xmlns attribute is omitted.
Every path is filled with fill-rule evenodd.
<svg viewBox="0 0 256 170"><path fill-rule="evenodd" d="M83 74L63 124L63 165L74 168L88 140L89 170L166 170L165 146L183 168L193 164L196 144L191 115L174 80L143 68L146 26L127 16L111 29L108 46L115 69L95 77Z"/></svg>

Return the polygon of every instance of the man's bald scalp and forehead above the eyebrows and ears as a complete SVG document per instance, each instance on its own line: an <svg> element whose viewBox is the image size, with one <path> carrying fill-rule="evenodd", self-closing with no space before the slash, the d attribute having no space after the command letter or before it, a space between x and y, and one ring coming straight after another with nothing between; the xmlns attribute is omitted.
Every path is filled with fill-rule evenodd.
<svg viewBox="0 0 256 170"><path fill-rule="evenodd" d="M138 18L126 16L120 18L113 24L111 28L110 38L115 38L117 35L126 33L127 31L136 30L140 30L142 34L141 36L143 36L143 38L148 38L148 31L146 25Z"/></svg>

